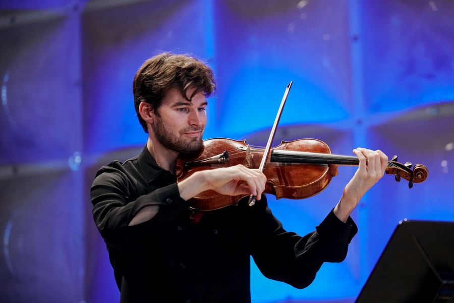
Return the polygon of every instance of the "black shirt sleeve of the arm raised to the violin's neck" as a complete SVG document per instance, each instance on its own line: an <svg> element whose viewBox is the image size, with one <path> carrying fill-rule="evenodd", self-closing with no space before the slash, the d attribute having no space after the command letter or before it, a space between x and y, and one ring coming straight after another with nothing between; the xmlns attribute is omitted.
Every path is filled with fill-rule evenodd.
<svg viewBox="0 0 454 303"><path fill-rule="evenodd" d="M259 208L254 214L251 255L264 276L296 288L312 283L323 262L342 262L358 231L350 217L344 223L331 210L315 231L299 236L282 228L266 200Z"/></svg>

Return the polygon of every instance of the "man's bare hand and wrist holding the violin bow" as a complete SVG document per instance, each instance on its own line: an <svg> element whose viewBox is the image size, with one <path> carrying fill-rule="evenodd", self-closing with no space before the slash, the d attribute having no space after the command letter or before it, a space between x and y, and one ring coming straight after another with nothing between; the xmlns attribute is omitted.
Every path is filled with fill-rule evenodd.
<svg viewBox="0 0 454 303"><path fill-rule="evenodd" d="M196 172L178 183L180 196L189 200L205 190L225 195L252 194L260 199L265 189L266 176L258 169L243 165Z"/></svg>

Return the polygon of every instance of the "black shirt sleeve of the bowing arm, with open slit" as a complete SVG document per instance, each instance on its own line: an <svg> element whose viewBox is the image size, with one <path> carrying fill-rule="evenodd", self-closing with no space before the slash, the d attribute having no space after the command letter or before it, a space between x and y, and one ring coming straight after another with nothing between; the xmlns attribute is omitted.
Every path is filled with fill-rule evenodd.
<svg viewBox="0 0 454 303"><path fill-rule="evenodd" d="M128 241L142 238L161 223L175 218L189 206L180 197L177 183L145 192L144 185L132 184L119 170L109 168L98 173L91 186L93 218L107 244L120 249ZM152 205L159 206L152 219L128 226L141 209Z"/></svg>

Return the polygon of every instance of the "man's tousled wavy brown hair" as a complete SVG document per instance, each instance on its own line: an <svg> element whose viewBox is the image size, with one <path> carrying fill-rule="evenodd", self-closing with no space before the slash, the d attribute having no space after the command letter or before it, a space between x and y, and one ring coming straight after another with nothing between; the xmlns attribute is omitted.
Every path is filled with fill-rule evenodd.
<svg viewBox="0 0 454 303"><path fill-rule="evenodd" d="M140 103L150 104L158 115L157 110L163 97L173 87L180 89L188 101L199 92L208 97L216 90L213 71L200 59L172 53L161 53L148 59L137 71L133 82L134 108L146 133L148 133L146 122L139 113ZM196 89L188 98L187 90L194 87Z"/></svg>

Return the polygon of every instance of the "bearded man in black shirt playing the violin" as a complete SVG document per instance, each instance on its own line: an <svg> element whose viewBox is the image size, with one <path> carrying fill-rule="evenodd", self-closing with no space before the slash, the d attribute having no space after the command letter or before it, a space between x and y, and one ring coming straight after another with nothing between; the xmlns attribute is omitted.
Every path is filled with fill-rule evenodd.
<svg viewBox="0 0 454 303"><path fill-rule="evenodd" d="M121 302L249 302L250 256L266 277L306 287L323 262L345 259L357 232L350 213L383 176L381 151L355 149L359 168L341 200L304 237L271 214L257 169L207 170L177 183L179 155L203 145L206 97L214 90L211 69L189 56L159 54L136 73L135 109L148 141L138 157L101 168L91 188ZM188 200L208 189L253 194L257 203L242 200L196 222Z"/></svg>

